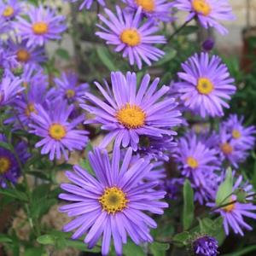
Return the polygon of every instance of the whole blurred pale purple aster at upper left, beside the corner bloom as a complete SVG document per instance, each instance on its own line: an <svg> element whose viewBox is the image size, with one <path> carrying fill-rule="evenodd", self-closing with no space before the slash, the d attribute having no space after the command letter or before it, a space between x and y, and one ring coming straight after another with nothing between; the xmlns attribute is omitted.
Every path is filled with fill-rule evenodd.
<svg viewBox="0 0 256 256"><path fill-rule="evenodd" d="M44 9L42 5L31 7L26 15L29 20L17 17L16 27L20 37L27 39L27 47L43 46L48 40L61 39L61 33L67 29L64 16L55 15L54 10Z"/></svg>

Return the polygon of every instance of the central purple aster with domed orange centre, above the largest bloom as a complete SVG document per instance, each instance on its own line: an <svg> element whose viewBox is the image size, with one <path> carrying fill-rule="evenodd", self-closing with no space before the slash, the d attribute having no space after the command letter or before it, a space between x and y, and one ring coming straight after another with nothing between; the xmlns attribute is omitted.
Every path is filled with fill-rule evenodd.
<svg viewBox="0 0 256 256"><path fill-rule="evenodd" d="M124 148L131 145L136 151L142 136L161 138L177 134L170 130L181 122L178 119L181 113L175 109L175 99L165 97L169 90L167 86L157 90L160 79L154 79L150 86L149 81L150 76L147 74L137 90L136 73L128 72L125 76L123 73L113 72L112 91L107 83L107 90L103 89L101 84L95 83L106 102L89 92L85 93L86 103L81 104L81 107L95 115L94 119L85 123L101 124L102 130L109 131L102 140L102 148L115 138L118 146L121 143Z"/></svg>

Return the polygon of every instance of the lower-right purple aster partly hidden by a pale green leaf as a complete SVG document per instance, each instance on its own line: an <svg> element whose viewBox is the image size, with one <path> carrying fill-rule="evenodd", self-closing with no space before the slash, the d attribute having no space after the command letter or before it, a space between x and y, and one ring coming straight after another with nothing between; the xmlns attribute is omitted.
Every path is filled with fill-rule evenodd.
<svg viewBox="0 0 256 256"><path fill-rule="evenodd" d="M241 187L242 177L239 177L234 185L233 192ZM248 189L251 189L251 186L243 186L243 189L248 192ZM227 199L227 202L230 202L229 205L217 209L215 212L220 213L224 219L224 230L227 236L230 234L230 228L234 230L236 234L244 235L242 229L253 230L253 228L248 225L243 217L256 219L256 213L252 211L256 210L256 206L252 203L240 203L236 201L236 195L230 195L230 198ZM234 202L234 203L232 203ZM224 204L223 204L224 205ZM208 203L209 207L216 207L215 203Z"/></svg>

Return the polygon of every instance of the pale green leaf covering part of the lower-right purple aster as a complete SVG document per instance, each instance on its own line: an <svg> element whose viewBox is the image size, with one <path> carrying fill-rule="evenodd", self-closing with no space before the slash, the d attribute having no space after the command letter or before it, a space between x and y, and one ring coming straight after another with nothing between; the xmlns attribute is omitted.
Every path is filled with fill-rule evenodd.
<svg viewBox="0 0 256 256"><path fill-rule="evenodd" d="M216 205L219 207L228 203L230 200L230 196L232 195L233 190L233 176L232 170L229 168L226 173L226 178L223 183L221 183L218 187L218 192L216 195Z"/></svg>

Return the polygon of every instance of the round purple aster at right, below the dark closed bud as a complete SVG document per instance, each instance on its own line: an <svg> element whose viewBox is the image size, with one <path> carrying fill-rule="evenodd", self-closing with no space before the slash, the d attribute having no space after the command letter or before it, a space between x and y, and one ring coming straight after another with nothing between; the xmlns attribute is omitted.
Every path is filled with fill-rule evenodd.
<svg viewBox="0 0 256 256"><path fill-rule="evenodd" d="M201 117L223 116L223 108L230 108L224 100L236 91L234 79L221 59L207 53L195 54L182 64L183 72L177 73L181 82L176 86L182 94L184 106Z"/></svg>

